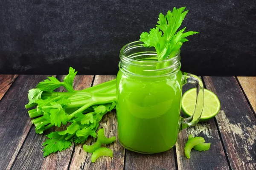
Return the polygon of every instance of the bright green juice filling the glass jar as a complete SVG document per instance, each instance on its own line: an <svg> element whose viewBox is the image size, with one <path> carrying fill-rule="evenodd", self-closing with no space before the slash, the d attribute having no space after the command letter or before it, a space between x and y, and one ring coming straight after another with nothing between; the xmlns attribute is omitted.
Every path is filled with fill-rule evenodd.
<svg viewBox="0 0 256 170"><path fill-rule="evenodd" d="M118 72L118 139L124 147L140 153L159 153L175 145L180 129L182 77L181 71L158 79Z"/></svg>

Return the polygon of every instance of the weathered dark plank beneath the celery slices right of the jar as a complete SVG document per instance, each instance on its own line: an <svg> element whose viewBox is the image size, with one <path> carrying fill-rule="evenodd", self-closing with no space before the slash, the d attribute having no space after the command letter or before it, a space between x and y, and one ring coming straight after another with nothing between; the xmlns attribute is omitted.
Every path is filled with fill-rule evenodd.
<svg viewBox="0 0 256 170"><path fill-rule="evenodd" d="M183 87L183 93L189 88L195 86L187 84ZM189 134L193 136L201 136L206 142L211 142L211 148L207 151L193 150L190 153L190 159L187 159L184 154L184 147L188 140ZM199 122L195 126L188 127L179 133L176 143L177 164L180 170L228 170L228 163L225 153L218 135L218 129L215 120L211 119L207 122Z"/></svg>

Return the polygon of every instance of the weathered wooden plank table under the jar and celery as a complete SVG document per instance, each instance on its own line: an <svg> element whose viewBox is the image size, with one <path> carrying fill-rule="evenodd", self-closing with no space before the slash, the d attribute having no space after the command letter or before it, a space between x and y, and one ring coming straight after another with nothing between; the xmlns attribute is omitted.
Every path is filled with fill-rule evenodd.
<svg viewBox="0 0 256 170"><path fill-rule="evenodd" d="M74 87L88 88L114 78L77 76ZM24 105L29 89L44 79L45 75L0 75L0 170L255 169L255 77L202 77L205 88L213 91L221 102L221 110L214 119L181 131L176 146L164 153L134 153L115 142L110 145L113 159L102 157L96 163L90 162L91 154L84 152L81 144L43 158L42 143L46 137L35 133ZM114 111L105 115L100 127L106 128L107 136L117 136ZM211 142L210 150L192 150L191 159L186 159L184 144L188 134ZM87 144L90 142L88 139Z"/></svg>

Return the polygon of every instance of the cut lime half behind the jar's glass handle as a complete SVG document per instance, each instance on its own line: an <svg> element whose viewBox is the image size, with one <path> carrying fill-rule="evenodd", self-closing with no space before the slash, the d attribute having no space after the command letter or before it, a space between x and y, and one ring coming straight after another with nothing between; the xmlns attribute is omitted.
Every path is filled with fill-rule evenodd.
<svg viewBox="0 0 256 170"><path fill-rule="evenodd" d="M195 88L192 88L183 94L181 99L181 109L186 116L193 115L195 111L195 101ZM218 114L220 108L221 104L218 97L212 91L204 89L204 109L199 122L204 122L213 118L216 116L216 114Z"/></svg>

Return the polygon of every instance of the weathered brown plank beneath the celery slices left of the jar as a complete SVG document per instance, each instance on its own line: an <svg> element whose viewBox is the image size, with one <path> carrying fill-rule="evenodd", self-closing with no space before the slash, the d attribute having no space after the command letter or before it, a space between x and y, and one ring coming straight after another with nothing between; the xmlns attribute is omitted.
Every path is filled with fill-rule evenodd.
<svg viewBox="0 0 256 170"><path fill-rule="evenodd" d="M115 79L115 76L98 76L96 75L93 85L98 85L102 82ZM106 136L116 136L117 137L117 124L116 124L116 112L112 111L107 113L99 124L99 128L103 127L105 129ZM92 144L95 140L88 138L86 144ZM70 164L70 170L101 170L101 169L123 169L124 166L124 148L119 144L118 140L109 147L113 150L113 158L101 157L97 159L95 163L91 162L91 153L86 153L82 144L78 144L75 147L75 152Z"/></svg>

